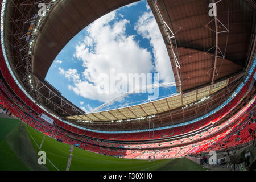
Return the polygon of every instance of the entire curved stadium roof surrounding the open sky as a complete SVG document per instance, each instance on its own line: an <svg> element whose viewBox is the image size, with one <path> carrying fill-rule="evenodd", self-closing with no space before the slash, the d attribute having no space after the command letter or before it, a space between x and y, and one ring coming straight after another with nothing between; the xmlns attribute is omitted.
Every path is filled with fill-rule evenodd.
<svg viewBox="0 0 256 182"><path fill-rule="evenodd" d="M76 121L109 120L110 123L113 119L156 114L155 121L153 119L156 126L185 122L224 102L246 75L253 60L255 5L251 1L218 1L217 16L214 18L208 15L208 6L212 1L148 0L163 35L180 95L84 115L79 108L65 102L51 85L47 85L44 81L47 71L65 44L84 27L106 13L135 1L46 2L49 2L46 18L34 19L38 12L34 1L7 1L5 50L11 69L23 87L36 101L63 118L69 115L69 119ZM28 42L26 35L31 22L36 22L39 26L35 27L31 35L33 42ZM201 104L186 107L187 104L207 96L210 99ZM143 128L147 127L145 123L146 121L129 124L130 126L119 123L113 127ZM86 126L86 123L83 125ZM105 125L97 124L93 127Z"/></svg>

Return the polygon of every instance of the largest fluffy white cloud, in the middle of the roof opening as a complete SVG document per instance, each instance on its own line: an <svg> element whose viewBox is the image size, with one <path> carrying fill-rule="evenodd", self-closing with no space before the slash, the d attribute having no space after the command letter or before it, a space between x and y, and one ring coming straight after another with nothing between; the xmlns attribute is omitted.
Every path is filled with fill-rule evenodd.
<svg viewBox="0 0 256 182"><path fill-rule="evenodd" d="M88 36L77 44L74 56L82 61L85 68L81 75L73 69L60 69L61 74L74 81L74 86L68 87L77 95L102 102L109 101L118 93L99 93L102 85L109 84L108 80L98 79L101 73L109 76L113 68L116 74L125 75L150 73L154 69L151 53L139 47L134 36L126 35L126 26L130 22L126 19L117 20L116 14L113 11L92 23L87 29ZM110 26L112 20L115 22Z"/></svg>

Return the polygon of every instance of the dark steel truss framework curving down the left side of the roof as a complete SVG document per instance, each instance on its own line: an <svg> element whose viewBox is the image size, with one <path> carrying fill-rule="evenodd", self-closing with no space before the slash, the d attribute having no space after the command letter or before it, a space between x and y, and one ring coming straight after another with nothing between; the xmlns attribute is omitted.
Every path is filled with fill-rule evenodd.
<svg viewBox="0 0 256 182"><path fill-rule="evenodd" d="M14 19L13 14L9 14L9 11L5 11L5 14L2 12L1 16L5 15L5 18L2 17L2 19L4 19L3 23L14 24L15 27L9 30L9 26L1 25L1 28L5 28L3 34L5 39L2 37L2 43L9 41L9 38L6 37L9 34L12 34L13 38L15 38L15 44L8 42L9 46L12 47L6 48L7 60L15 75L14 78L18 79L18 81L16 81L17 83L22 83L22 90L30 94L35 102L38 102L39 105L42 104L46 108L48 107L53 113L57 115L84 114L84 111L59 95L57 90L53 90L51 86L45 85L44 82L39 81L38 78L31 73L32 46L36 38L38 27L40 23L43 22L43 17L38 15L37 5L40 2L44 2L47 5L47 12L49 12L56 3L56 1L50 0L37 2L27 0L22 3L11 0L7 2L7 6L8 9L15 9L15 12L18 12L14 13L15 15L18 14L15 16L16 19ZM6 6L6 2L3 2L2 6ZM14 32L14 30L16 30L16 32ZM15 51L19 55L19 59L10 57L10 51ZM18 61L15 62L14 60ZM44 89L46 93L40 92L42 89ZM41 102L42 98L44 98L43 102ZM53 98L55 99L53 100ZM58 100L56 100L56 98L58 98ZM59 112L56 113L57 110L59 110Z"/></svg>

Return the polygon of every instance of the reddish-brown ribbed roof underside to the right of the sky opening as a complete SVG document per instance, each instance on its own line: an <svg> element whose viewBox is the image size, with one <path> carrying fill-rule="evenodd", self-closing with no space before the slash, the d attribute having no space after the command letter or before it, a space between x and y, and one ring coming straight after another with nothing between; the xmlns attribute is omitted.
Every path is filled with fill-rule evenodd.
<svg viewBox="0 0 256 182"><path fill-rule="evenodd" d="M213 17L208 15L209 3L204 0L157 1L163 20L175 32L177 51L174 51L179 56L183 92L212 81L216 45L216 35L212 30L216 28ZM214 80L245 68L254 14L246 1L222 0L217 3L218 32L228 30L228 33L218 34L218 55L224 55L225 59L217 59L218 75ZM175 78L177 84L178 77ZM177 90L180 92L178 87Z"/></svg>

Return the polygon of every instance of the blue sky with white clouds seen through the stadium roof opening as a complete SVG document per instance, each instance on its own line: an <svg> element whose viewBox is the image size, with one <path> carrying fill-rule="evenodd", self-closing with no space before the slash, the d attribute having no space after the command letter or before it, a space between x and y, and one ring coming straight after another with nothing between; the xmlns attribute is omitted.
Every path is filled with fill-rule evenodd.
<svg viewBox="0 0 256 182"><path fill-rule="evenodd" d="M109 84L106 77L113 69L116 75L123 76L158 73L160 83L174 82L166 46L146 1L121 7L84 28L56 57L46 80L89 113L122 93L138 89L138 85L132 88L123 79L120 83L126 81L128 85L127 89L121 86L122 92L99 92ZM175 87L159 88L158 98L173 93ZM146 102L148 94L130 94L104 110Z"/></svg>

